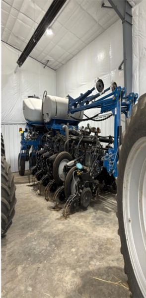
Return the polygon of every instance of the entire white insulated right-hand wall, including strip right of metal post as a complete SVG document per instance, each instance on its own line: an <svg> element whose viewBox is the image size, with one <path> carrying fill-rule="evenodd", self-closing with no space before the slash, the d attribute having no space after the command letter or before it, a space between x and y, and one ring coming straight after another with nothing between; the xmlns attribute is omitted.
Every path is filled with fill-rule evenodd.
<svg viewBox="0 0 146 298"><path fill-rule="evenodd" d="M123 60L122 21L119 19L109 29L80 51L65 66L56 71L57 95L70 94L73 98L91 89L97 77L103 79L105 88L115 80L124 86L124 70L118 67ZM124 69L124 66L122 66ZM133 90L139 96L146 92L146 0L133 8ZM97 111L86 111L89 116ZM86 121L99 126L102 135L114 133L113 117L103 122ZM125 129L125 116L122 115Z"/></svg>

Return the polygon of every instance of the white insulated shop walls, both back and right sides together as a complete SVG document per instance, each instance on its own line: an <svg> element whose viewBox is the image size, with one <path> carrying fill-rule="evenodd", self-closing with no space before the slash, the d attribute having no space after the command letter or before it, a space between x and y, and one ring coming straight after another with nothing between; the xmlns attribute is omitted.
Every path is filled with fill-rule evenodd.
<svg viewBox="0 0 146 298"><path fill-rule="evenodd" d="M146 1L133 8L133 91L142 95L146 92ZM1 46L1 129L4 136L6 157L12 171L17 171L17 157L20 149L18 129L24 125L22 100L30 94L42 98L44 90L51 95L77 97L92 88L100 77L105 88L111 81L124 86L124 69L118 67L123 60L122 22L118 20L104 33L80 51L72 60L56 72L28 57L21 69L14 74L20 52L0 42ZM89 110L94 115L100 110ZM114 118L106 121L86 121L86 126L100 127L102 135L113 135ZM24 125L25 126L25 125ZM23 126L23 127L24 127ZM122 117L123 130L125 116Z"/></svg>

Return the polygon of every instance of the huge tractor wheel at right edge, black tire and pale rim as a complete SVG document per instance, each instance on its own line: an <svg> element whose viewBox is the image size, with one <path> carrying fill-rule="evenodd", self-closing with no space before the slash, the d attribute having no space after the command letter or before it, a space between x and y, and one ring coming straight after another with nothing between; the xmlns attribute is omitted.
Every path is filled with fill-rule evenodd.
<svg viewBox="0 0 146 298"><path fill-rule="evenodd" d="M118 233L133 298L146 298L146 94L126 120L117 163Z"/></svg>

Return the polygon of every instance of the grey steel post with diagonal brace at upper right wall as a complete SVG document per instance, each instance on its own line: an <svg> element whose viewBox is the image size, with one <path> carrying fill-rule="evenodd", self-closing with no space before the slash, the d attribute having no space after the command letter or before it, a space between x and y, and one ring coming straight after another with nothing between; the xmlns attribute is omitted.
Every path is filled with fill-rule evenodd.
<svg viewBox="0 0 146 298"><path fill-rule="evenodd" d="M124 84L126 93L132 91L132 6L127 0L108 0L122 20L123 24L123 55L124 55Z"/></svg>

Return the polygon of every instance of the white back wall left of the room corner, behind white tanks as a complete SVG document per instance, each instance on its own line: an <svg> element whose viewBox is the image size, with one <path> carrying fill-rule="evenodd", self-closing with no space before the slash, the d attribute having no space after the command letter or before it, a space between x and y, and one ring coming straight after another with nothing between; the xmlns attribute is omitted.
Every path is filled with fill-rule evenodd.
<svg viewBox="0 0 146 298"><path fill-rule="evenodd" d="M0 42L0 131L3 134L6 160L13 172L18 171L18 153L20 151L19 127L25 128L22 100L28 95L43 96L44 90L56 95L55 71L28 57L23 66L17 70L16 61L21 52ZM26 165L28 168L28 164Z"/></svg>

